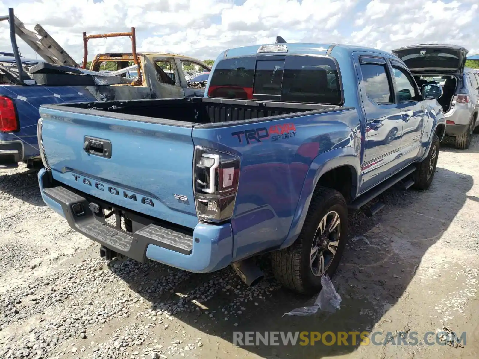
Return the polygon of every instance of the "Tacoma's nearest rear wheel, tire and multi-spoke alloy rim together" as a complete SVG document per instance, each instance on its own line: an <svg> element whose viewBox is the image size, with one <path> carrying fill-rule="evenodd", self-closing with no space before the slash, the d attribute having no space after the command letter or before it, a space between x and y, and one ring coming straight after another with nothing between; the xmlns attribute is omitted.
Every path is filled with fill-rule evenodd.
<svg viewBox="0 0 479 359"><path fill-rule="evenodd" d="M318 292L321 276L326 273L332 277L338 268L347 238L347 222L348 209L342 194L318 188L296 242L272 254L276 279L296 292Z"/></svg>

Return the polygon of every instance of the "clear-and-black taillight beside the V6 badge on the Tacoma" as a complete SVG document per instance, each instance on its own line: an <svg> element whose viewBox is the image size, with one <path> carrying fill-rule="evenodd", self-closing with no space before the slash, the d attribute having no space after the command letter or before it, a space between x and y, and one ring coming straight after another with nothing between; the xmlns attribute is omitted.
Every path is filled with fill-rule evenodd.
<svg viewBox="0 0 479 359"><path fill-rule="evenodd" d="M193 181L199 220L222 222L233 215L239 180L239 157L195 146Z"/></svg>

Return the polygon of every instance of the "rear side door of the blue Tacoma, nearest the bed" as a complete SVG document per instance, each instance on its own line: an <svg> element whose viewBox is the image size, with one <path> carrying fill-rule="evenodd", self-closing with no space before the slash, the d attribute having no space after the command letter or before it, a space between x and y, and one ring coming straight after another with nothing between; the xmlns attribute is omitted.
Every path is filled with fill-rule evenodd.
<svg viewBox="0 0 479 359"><path fill-rule="evenodd" d="M386 59L376 55L354 57L366 117L360 185L360 192L364 192L393 174L398 164L402 121Z"/></svg>

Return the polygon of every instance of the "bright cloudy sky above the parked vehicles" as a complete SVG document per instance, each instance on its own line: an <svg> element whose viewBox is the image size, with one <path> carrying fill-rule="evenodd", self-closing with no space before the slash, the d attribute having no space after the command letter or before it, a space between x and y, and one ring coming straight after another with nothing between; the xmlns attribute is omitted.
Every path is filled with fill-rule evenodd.
<svg viewBox="0 0 479 359"><path fill-rule="evenodd" d="M479 53L478 0L0 0L33 30L41 24L78 62L87 34L137 28L137 51L216 58L231 47L287 42L345 43L391 50L445 43ZM8 22L0 51L11 52ZM34 51L18 41L23 56ZM128 38L93 39L99 52L128 51Z"/></svg>

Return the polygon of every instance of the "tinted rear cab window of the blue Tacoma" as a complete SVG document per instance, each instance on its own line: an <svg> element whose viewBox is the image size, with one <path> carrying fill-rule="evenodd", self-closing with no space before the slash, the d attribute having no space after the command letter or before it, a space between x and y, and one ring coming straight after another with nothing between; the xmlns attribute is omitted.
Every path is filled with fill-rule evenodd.
<svg viewBox="0 0 479 359"><path fill-rule="evenodd" d="M218 62L208 97L342 104L336 63L322 56L245 56Z"/></svg>

